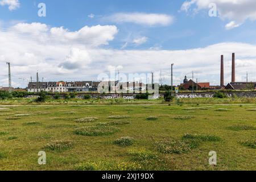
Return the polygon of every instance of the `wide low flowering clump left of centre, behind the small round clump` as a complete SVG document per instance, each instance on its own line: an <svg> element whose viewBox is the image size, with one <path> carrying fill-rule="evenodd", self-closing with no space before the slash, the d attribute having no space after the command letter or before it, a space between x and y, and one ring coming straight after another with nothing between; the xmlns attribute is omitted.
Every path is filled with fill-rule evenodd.
<svg viewBox="0 0 256 182"><path fill-rule="evenodd" d="M119 131L116 127L98 125L98 126L86 126L75 130L77 135L97 137L102 135L111 135Z"/></svg>

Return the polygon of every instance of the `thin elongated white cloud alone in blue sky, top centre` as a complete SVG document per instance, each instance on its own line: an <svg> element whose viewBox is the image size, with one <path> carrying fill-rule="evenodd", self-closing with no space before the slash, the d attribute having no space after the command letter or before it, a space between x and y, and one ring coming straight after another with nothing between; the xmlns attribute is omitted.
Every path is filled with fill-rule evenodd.
<svg viewBox="0 0 256 182"><path fill-rule="evenodd" d="M105 19L116 23L136 23L147 26L168 26L174 22L174 17L166 14L117 13Z"/></svg>

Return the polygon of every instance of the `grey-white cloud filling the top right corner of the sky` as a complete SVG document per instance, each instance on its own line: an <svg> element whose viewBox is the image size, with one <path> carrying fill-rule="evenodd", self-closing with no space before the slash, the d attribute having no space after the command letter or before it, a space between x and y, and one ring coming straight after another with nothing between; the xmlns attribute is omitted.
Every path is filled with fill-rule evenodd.
<svg viewBox="0 0 256 182"><path fill-rule="evenodd" d="M217 5L218 14L223 20L229 20L226 24L226 29L230 30L239 27L245 20L256 20L256 1L255 0L189 0L185 1L181 6L181 10L188 11L196 6L194 11L203 9L209 10L209 4L215 3Z"/></svg>

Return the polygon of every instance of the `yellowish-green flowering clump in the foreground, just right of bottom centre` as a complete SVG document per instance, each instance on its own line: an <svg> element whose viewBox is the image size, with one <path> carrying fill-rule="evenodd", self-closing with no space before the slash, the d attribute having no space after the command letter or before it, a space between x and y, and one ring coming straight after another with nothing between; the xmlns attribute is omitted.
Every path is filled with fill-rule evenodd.
<svg viewBox="0 0 256 182"><path fill-rule="evenodd" d="M153 154L151 151L147 151L147 150L131 150L129 151L129 154L133 156L132 160L140 161L140 162L143 162L146 160L154 160L158 158L158 156Z"/></svg>

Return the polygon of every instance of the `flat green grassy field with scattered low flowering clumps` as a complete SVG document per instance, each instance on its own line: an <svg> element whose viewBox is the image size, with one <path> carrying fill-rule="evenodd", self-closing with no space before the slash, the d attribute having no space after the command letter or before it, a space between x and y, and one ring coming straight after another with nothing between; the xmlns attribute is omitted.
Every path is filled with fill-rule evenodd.
<svg viewBox="0 0 256 182"><path fill-rule="evenodd" d="M0 106L0 169L255 170L255 131L255 104Z"/></svg>

